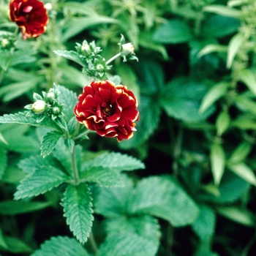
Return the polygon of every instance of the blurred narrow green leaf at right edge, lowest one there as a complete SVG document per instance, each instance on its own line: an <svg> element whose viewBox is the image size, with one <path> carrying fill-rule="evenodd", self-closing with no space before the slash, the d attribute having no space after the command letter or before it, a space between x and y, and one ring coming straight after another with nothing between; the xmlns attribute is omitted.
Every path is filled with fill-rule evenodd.
<svg viewBox="0 0 256 256"><path fill-rule="evenodd" d="M219 214L228 219L231 219L242 225L255 227L255 217L250 211L246 209L237 208L235 206L219 206L216 209Z"/></svg>

